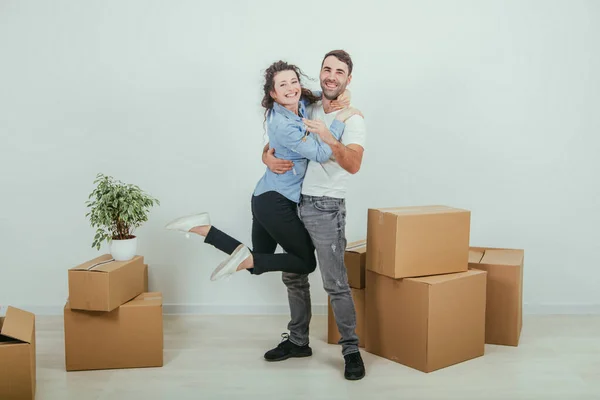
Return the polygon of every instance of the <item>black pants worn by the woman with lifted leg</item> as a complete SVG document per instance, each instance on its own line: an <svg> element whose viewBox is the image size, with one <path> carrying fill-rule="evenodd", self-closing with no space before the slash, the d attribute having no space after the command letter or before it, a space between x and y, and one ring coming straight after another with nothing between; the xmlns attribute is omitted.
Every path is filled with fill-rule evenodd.
<svg viewBox="0 0 600 400"><path fill-rule="evenodd" d="M214 226L205 243L231 254L241 243ZM277 245L286 253L275 254ZM252 256L250 272L310 274L317 267L315 247L300 217L298 205L277 192L252 196Z"/></svg>

